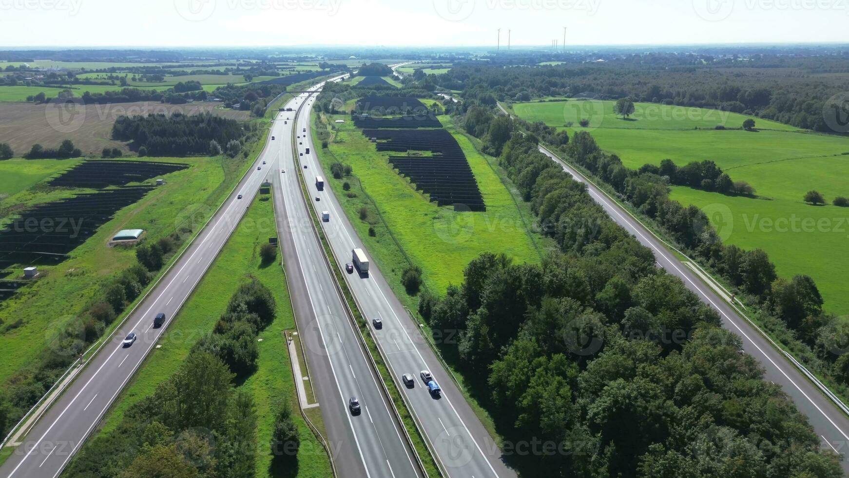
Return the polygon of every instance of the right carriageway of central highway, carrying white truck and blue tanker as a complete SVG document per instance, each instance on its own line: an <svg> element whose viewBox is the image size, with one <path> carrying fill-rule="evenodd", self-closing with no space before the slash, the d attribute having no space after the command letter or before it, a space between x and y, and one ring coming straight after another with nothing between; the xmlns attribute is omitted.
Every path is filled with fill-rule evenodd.
<svg viewBox="0 0 849 478"><path fill-rule="evenodd" d="M315 155L316 145L310 128L311 109L312 102L309 102L306 110L298 115L297 132L301 138L296 139L303 142L298 144L298 160L306 166L301 171L304 173L306 188L312 195L310 203L314 213L320 217L322 211L329 212L329 221L321 224L337 263L344 267L347 262L351 262L351 250L354 247L366 248L357 237L329 184L325 181L321 191L316 187L316 176L326 178L328 175L322 170ZM305 134L306 138L303 138ZM306 154L306 148L310 149L309 154ZM368 250L366 252L368 255ZM371 328L372 335L387 359L392 378L404 394L408 408L417 419L419 430L436 453L443 473L449 477L515 476L514 471L503 464L501 451L469 408L447 370L424 342L419 324L409 317L374 261L370 261L367 275L360 275L356 269L354 273L343 271L343 274L357 298L363 316L369 322L373 318L380 318L383 322L382 329ZM421 370L430 370L434 375L441 386L441 396L430 395L419 378ZM402 374L413 375L412 386L402 383Z"/></svg>

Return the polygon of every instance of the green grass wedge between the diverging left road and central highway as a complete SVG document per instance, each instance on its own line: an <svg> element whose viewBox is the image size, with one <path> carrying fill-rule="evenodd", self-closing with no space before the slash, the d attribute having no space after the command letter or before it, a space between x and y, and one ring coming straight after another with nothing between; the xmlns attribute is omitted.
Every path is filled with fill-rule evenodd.
<svg viewBox="0 0 849 478"><path fill-rule="evenodd" d="M297 412L295 383L283 335L285 329L295 327L295 317L283 268L278 262L262 265L259 258L260 245L267 242L269 236L277 235L272 201L267 198L253 202L210 270L160 338L162 347L150 353L104 418L100 436L115 430L133 403L152 395L157 385L177 371L200 336L212 331L233 291L242 282L256 278L272 291L277 301L277 318L259 335L260 356L256 373L239 385L251 392L256 404L259 449L256 477L269 476L272 455L268 441L271 440L274 413L279 403L284 401L290 403L292 418L301 435L296 476L319 478L330 475L327 454L301 418L301 413Z"/></svg>

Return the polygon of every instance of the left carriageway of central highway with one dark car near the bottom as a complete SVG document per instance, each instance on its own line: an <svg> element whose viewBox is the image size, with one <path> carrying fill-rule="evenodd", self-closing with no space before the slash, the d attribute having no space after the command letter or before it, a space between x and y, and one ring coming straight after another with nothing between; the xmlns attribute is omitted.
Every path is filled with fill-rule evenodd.
<svg viewBox="0 0 849 478"><path fill-rule="evenodd" d="M346 477L419 476L310 225L291 143L295 113L307 98L309 93L301 93L286 105L293 111L278 115L272 128L276 147L267 157L290 296L335 466ZM348 410L351 396L363 407L357 415Z"/></svg>

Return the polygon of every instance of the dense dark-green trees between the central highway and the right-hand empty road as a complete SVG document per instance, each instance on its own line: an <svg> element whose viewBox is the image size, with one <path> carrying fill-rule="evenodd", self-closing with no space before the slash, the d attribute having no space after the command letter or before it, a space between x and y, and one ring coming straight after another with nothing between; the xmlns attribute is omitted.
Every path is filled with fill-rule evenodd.
<svg viewBox="0 0 849 478"><path fill-rule="evenodd" d="M538 266L482 255L419 312L441 336L458 332L442 346L490 391L506 441L556 445L510 456L524 474L842 475L717 313L536 138L514 134L501 162L559 252Z"/></svg>

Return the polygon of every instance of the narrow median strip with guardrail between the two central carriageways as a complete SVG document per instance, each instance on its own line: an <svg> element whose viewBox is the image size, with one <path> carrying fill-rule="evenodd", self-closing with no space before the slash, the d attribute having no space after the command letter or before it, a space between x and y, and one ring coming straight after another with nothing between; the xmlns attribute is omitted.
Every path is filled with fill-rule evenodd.
<svg viewBox="0 0 849 478"><path fill-rule="evenodd" d="M304 104L306 104L306 101L303 101L301 103L301 106L299 106L298 110L295 112L295 121L297 120L298 115L301 114L301 108L304 106ZM295 124L297 124L297 123L295 122ZM297 131L297 128L296 127L293 128L293 130L292 130L293 136L295 135L296 131ZM297 155L297 148L295 147L295 138L291 138L291 139L292 139L293 157L295 158L295 162L297 163L296 169L298 170L298 176L301 177L301 181L299 181L300 188L301 188L301 200L303 200L304 205L306 205L306 207L307 207L307 211L309 211L311 206L307 204L307 200L306 200L306 191L305 191L306 178L303 177L301 160L299 158L299 155ZM318 244L322 245L322 250L324 250L322 233L319 233L318 228L316 227L316 224L315 224L315 221L318 219L318 211L315 210L314 206L312 206L312 211L315 214L311 215L311 217L310 217L310 221L309 221L310 222L310 228L312 229L312 233L315 235L315 238L318 240ZM328 247L329 247L329 242L328 242ZM332 248L331 248L331 253L332 253ZM357 330L359 330L359 324L357 323L357 318L355 318L354 312L351 310L351 305L348 303L348 301L346 299L346 296L345 296L344 291L342 290L342 286L340 284L340 281L336 277L333 265L330 263L330 259L329 259L329 257L327 256L326 253L322 254L322 259L323 259L325 267L327 267L327 269L330 273L330 276L333 278L333 284L334 284L334 289L336 291L336 294L338 295L340 301L345 305L347 318L351 321L351 323L354 325L354 327ZM353 294L351 294L351 297L353 298L357 308L362 309L362 306L360 306L358 301L357 301L357 297ZM363 315L363 314L360 313L360 315ZM416 457L416 463L419 466L419 471L421 471L423 476L427 476L428 473L427 473L427 470L424 468L424 462L422 462L422 459L419 456L418 450L416 450L415 445L413 445L413 438L409 435L407 427L404 425L404 420L401 417L401 413L398 412L398 409L395 406L395 401L392 400L392 396L389 393L389 389L386 387L386 384L383 380L383 376L380 374L380 369L377 367L377 363L374 362L374 357L372 357L371 352L368 351L368 344L365 343L365 339L363 338L362 332L359 333L359 334L355 334L355 335L357 335L357 338L359 339L360 346L363 346L363 349L366 352L363 355L368 357L368 365L372 368L372 372L378 377L378 379L380 381L381 391L383 391L385 398L391 404L392 412L395 414L395 418L397 420L398 426L404 432L404 436L407 439L408 446L410 447L411 450L413 450L413 455ZM374 336L372 337L372 340L374 340ZM381 349L378 341L374 340L374 343L378 348L378 352L380 353L381 359L384 361L384 363L388 363L386 361L385 352ZM396 385L396 389L397 389L397 384L395 383L394 380L392 381L392 383L394 385ZM418 419L418 416L415 416L415 414L413 412L413 408L411 408L409 403L404 399L404 395L403 395L403 393L401 393L401 391L399 391L399 395L402 397L402 400L404 400L404 403L407 405L407 408L411 411L411 413L410 413L411 416L414 417L414 419L417 422L417 425L419 426L419 428L421 428L421 423ZM430 447L430 444L428 443L427 440L423 440L423 441L424 441L425 445L428 447L428 450L430 451L431 456L434 457L434 461L437 463L437 465L439 465L440 462L436 458L436 453L434 453L433 449ZM447 476L447 474L442 470L441 467L440 467L440 473L443 476Z"/></svg>

